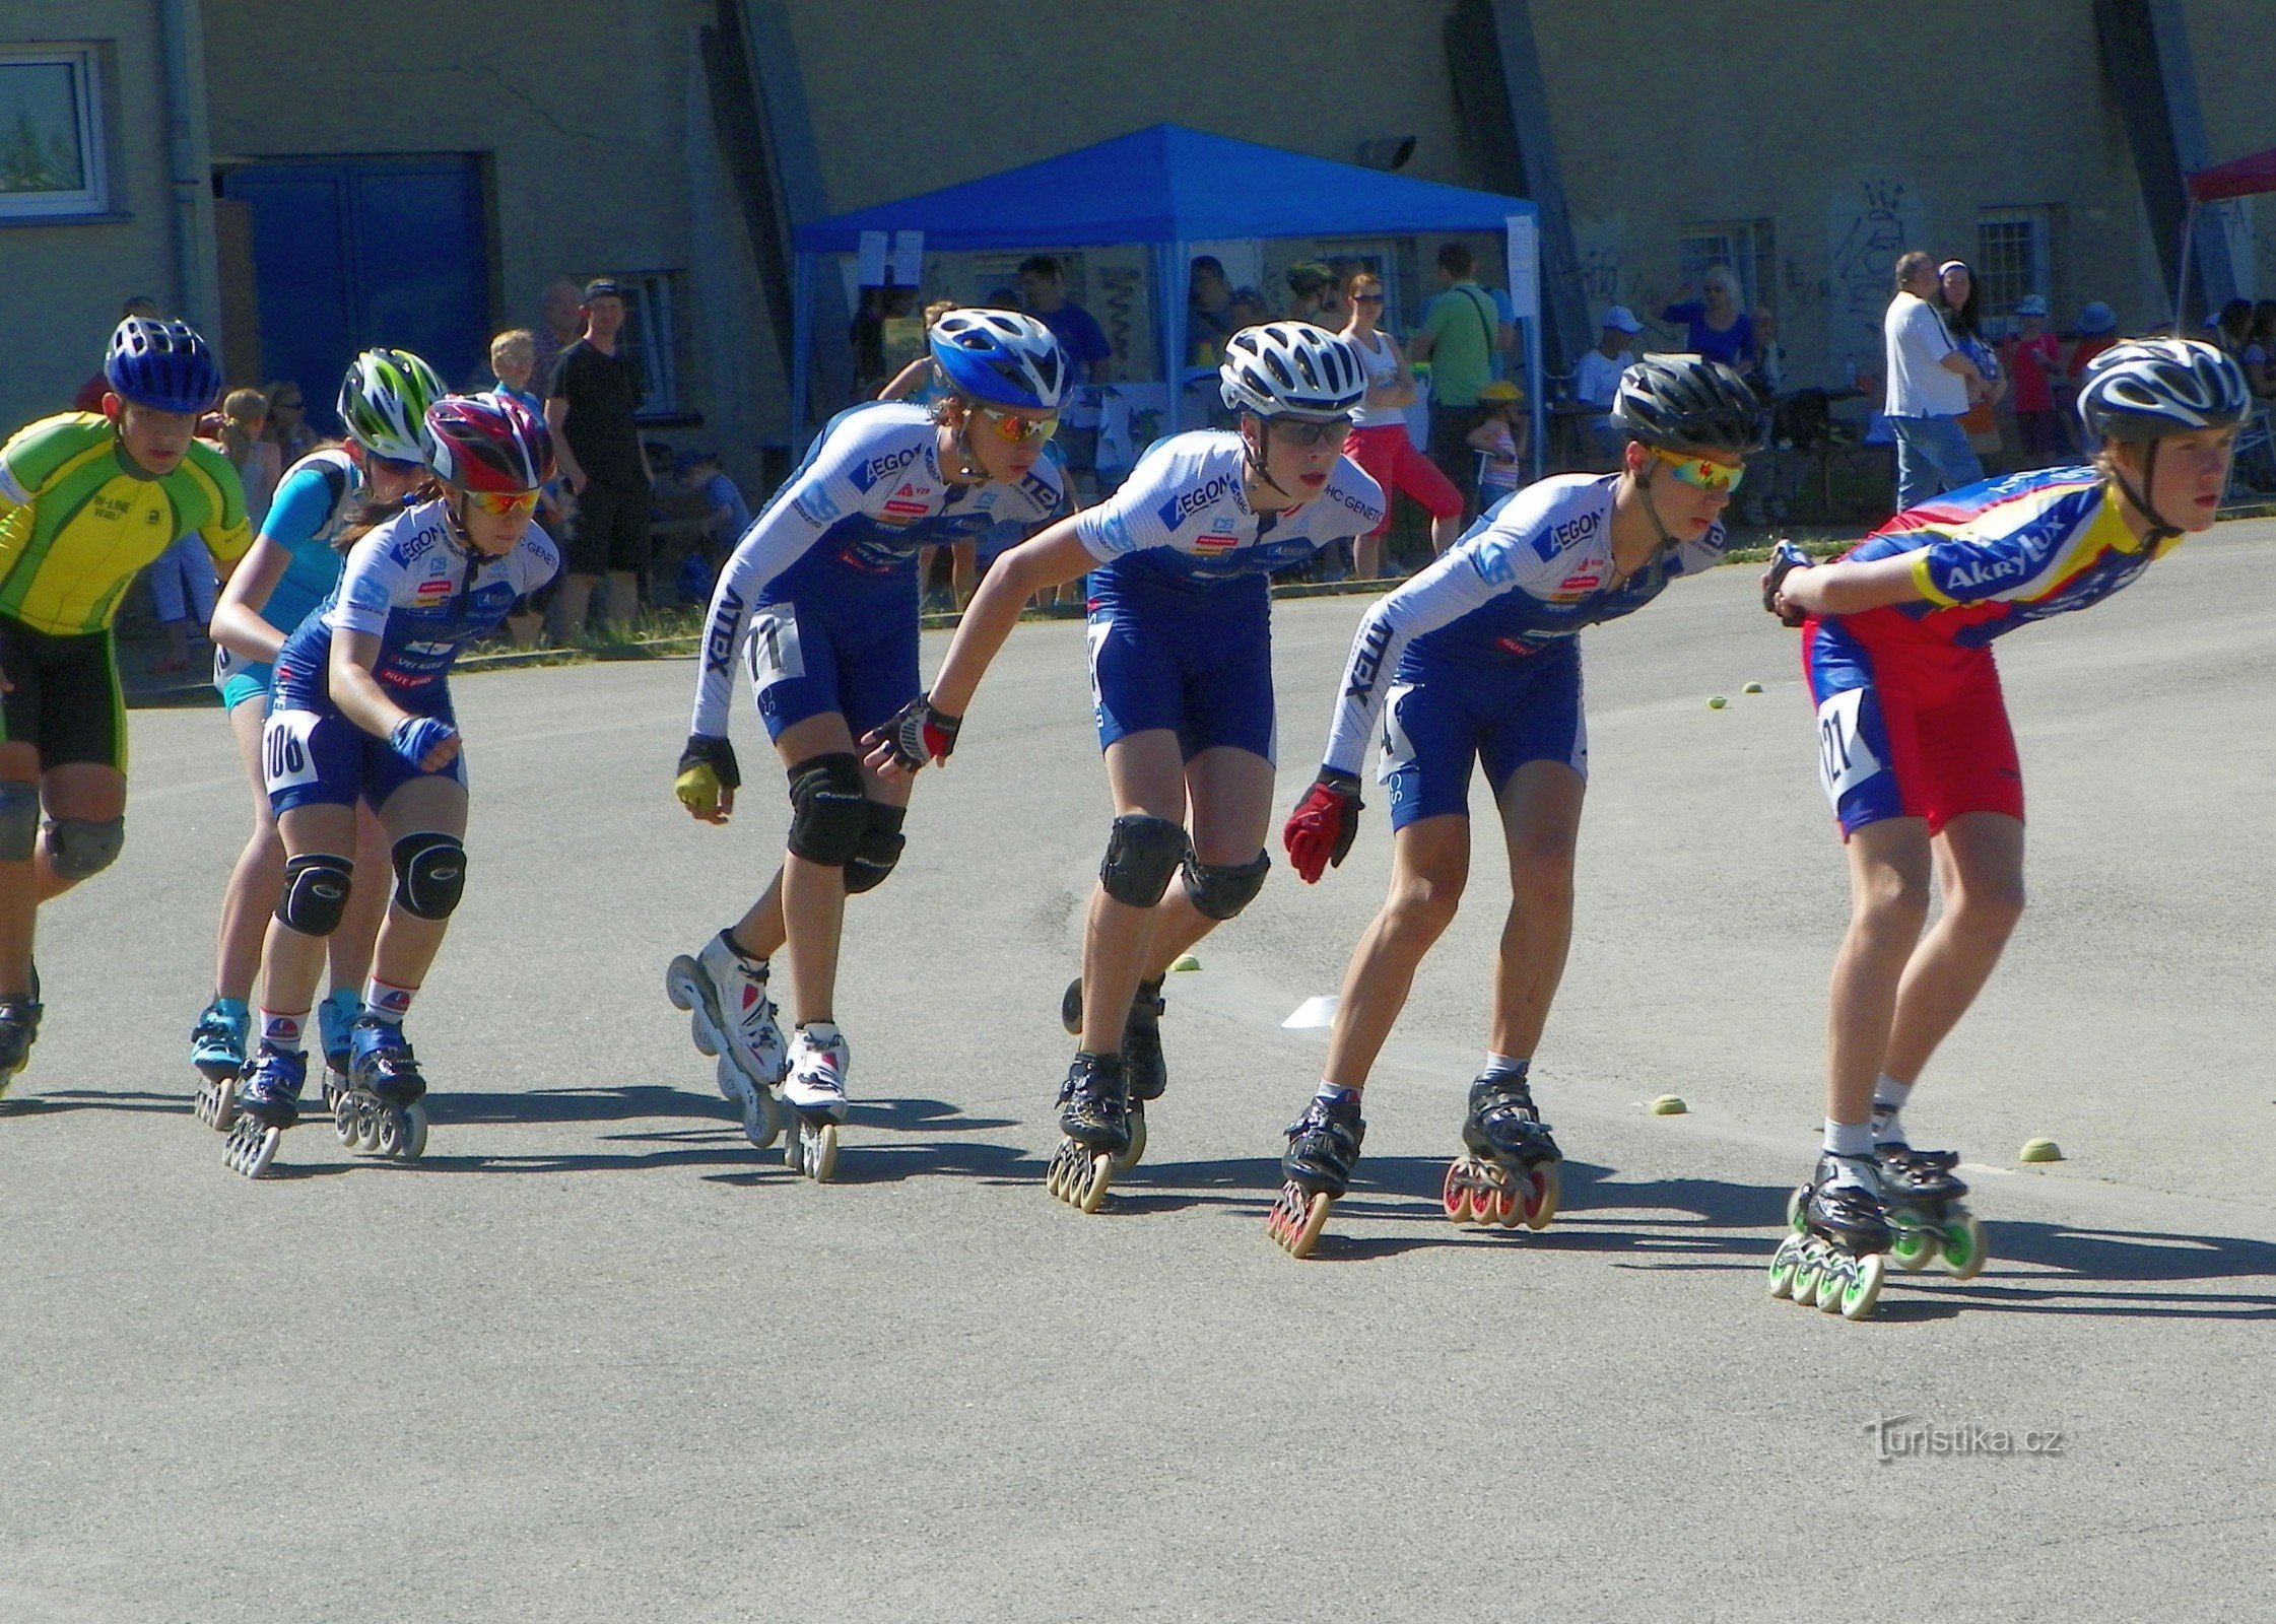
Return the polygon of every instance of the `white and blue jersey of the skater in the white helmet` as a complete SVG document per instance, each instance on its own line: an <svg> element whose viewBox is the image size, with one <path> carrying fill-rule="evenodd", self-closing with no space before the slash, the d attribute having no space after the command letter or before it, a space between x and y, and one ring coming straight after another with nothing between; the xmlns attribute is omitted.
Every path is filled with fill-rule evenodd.
<svg viewBox="0 0 2276 1624"><path fill-rule="evenodd" d="M1336 457L1318 496L1272 514L1250 507L1245 471L1247 450L1229 430L1154 444L1122 489L1074 519L1074 535L1099 562L1092 598L1263 578L1384 521L1382 487L1350 457Z"/></svg>

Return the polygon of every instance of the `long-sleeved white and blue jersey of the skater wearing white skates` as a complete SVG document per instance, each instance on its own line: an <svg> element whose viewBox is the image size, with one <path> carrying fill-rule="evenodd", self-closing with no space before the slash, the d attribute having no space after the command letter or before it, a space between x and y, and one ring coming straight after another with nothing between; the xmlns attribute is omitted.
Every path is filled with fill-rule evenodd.
<svg viewBox="0 0 2276 1624"><path fill-rule="evenodd" d="M692 730L726 735L751 610L792 603L801 614L835 619L901 614L915 637L917 548L976 541L999 523L1042 523L1065 500L1052 459L1017 484L949 482L929 407L872 400L840 412L719 571Z"/></svg>

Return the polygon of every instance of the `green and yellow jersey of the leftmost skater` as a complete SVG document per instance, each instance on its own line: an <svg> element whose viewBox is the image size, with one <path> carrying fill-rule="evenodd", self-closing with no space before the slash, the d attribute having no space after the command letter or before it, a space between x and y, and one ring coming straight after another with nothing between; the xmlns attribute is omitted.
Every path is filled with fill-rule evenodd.
<svg viewBox="0 0 2276 1624"><path fill-rule="evenodd" d="M137 469L109 419L86 412L0 446L0 614L34 630L107 630L134 575L191 530L216 564L253 546L237 469L205 441L164 478Z"/></svg>

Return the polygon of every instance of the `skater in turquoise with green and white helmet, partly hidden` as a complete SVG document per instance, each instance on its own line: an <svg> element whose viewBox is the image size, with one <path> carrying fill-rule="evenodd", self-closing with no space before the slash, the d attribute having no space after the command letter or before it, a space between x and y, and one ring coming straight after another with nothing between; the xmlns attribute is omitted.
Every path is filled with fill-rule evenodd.
<svg viewBox="0 0 2276 1624"><path fill-rule="evenodd" d="M419 430L444 396L435 368L410 350L364 350L339 384L341 446L312 450L284 471L259 537L214 605L214 687L230 712L237 753L253 780L253 835L230 871L214 942L214 1001L189 1033L189 1064L203 1085L198 1117L228 1128L237 1117L237 1074L246 1067L253 978L262 967L269 908L284 880L284 844L269 810L262 776L262 726L278 648L339 582L339 539L355 523L376 523L428 478ZM387 862L387 837L371 807L357 807L355 860L364 873ZM348 1026L364 1012L371 937L387 894L366 885L353 894L339 930L328 937L332 992L316 1005L328 1089L346 1076Z"/></svg>

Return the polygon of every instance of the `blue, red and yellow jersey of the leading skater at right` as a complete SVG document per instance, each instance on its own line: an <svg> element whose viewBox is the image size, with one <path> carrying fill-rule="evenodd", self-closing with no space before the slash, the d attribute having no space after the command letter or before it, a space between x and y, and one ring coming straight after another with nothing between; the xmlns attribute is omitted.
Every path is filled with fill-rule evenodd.
<svg viewBox="0 0 2276 1624"><path fill-rule="evenodd" d="M1919 553L1912 585L1921 600L1896 614L1941 641L1982 648L2026 621L2101 603L2176 546L2180 537L2139 541L2098 471L2042 469L1921 503L1844 560Z"/></svg>

